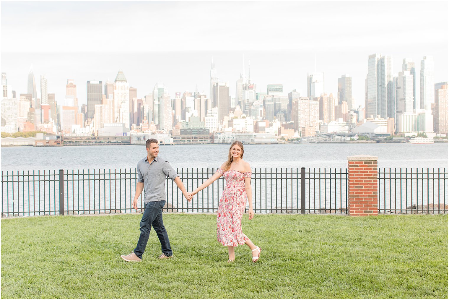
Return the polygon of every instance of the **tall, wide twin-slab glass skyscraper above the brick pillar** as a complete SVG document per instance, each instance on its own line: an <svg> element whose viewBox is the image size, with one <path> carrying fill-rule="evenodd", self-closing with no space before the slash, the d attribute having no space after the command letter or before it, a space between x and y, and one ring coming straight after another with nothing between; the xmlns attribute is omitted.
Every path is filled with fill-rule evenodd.
<svg viewBox="0 0 449 300"><path fill-rule="evenodd" d="M393 91L391 56L371 54L365 81L366 117L394 118L396 115Z"/></svg>

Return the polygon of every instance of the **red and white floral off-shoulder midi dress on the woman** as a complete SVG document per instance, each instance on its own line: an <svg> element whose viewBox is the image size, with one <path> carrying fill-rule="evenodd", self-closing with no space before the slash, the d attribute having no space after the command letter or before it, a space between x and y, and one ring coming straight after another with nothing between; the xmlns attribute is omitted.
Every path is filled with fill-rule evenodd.
<svg viewBox="0 0 449 300"><path fill-rule="evenodd" d="M251 178L251 172L236 170L217 172L223 174L226 186L220 198L217 211L217 239L223 246L243 245L249 238L242 233L242 216L247 206L245 178Z"/></svg>

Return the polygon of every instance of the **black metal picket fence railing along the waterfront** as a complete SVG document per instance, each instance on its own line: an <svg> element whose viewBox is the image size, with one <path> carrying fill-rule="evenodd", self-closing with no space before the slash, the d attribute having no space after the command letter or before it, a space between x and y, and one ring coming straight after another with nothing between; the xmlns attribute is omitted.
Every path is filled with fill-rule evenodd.
<svg viewBox="0 0 449 300"><path fill-rule="evenodd" d="M177 169L188 191L216 169ZM379 213L447 213L446 170L379 169ZM1 172L2 216L136 212L131 207L136 169ZM336 213L348 207L348 170L255 168L251 178L256 213ZM165 212L216 212L220 177L188 203L167 178ZM144 207L143 193L138 207Z"/></svg>

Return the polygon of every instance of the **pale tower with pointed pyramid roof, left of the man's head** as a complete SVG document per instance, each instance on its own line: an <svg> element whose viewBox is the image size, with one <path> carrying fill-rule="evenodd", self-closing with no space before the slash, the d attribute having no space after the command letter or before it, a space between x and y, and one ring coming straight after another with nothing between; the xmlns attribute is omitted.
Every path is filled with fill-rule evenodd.
<svg viewBox="0 0 449 300"><path fill-rule="evenodd" d="M129 128L129 84L122 70L117 73L113 88L114 110L112 119L114 122L125 124Z"/></svg>

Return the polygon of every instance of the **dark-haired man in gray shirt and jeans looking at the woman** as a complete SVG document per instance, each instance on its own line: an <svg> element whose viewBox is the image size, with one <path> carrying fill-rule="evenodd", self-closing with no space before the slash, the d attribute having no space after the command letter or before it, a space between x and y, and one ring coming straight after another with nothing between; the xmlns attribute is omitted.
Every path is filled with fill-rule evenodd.
<svg viewBox="0 0 449 300"><path fill-rule="evenodd" d="M145 143L147 155L137 163L136 195L132 201L132 207L137 209L137 199L145 187L145 211L140 223L140 237L137 246L128 255L120 256L126 261L141 261L145 251L151 226L153 226L162 246L162 254L159 258L170 258L173 255L168 240L167 230L162 221L162 208L165 205L167 195L165 193L165 179L167 176L176 183L185 199L192 200L193 196L185 190L179 175L167 160L158 156L159 142L156 139L148 139Z"/></svg>

